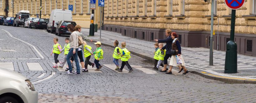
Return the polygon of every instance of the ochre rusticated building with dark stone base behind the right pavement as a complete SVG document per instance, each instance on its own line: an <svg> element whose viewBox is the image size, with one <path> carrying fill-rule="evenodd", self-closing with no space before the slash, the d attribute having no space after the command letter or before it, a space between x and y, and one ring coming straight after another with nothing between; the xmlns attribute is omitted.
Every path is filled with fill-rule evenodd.
<svg viewBox="0 0 256 103"><path fill-rule="evenodd" d="M152 42L171 29L179 34L181 46L209 48L210 15L211 4L204 0L105 0L104 29ZM224 0L214 0L215 50L226 51L230 22ZM256 0L245 0L236 10L235 25L238 53L256 56Z"/></svg>

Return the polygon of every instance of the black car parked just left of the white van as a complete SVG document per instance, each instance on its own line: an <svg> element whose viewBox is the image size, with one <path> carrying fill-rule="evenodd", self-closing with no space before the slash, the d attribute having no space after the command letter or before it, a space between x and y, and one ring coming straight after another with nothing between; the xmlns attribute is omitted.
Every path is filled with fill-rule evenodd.
<svg viewBox="0 0 256 103"><path fill-rule="evenodd" d="M43 18L35 18L29 25L30 28L46 28L46 24L47 24L47 19L43 19Z"/></svg>

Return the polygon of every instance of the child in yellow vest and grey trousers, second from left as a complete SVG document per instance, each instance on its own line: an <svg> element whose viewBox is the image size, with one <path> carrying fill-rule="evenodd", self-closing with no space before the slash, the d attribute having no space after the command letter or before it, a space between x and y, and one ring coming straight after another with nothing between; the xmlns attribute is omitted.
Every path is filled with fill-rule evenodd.
<svg viewBox="0 0 256 103"><path fill-rule="evenodd" d="M61 60L61 64L59 65L59 68L63 68L63 66L65 65L65 63L66 63L66 57L67 57L67 54L68 54L68 52L69 52L69 49L70 49L70 47L69 47L69 45L70 45L70 43L69 43L69 38L66 38L65 39L65 46L64 46L64 48L62 49L62 51L64 51L64 57L62 58L62 60ZM68 70L68 68L66 68L65 69L66 71Z"/></svg>

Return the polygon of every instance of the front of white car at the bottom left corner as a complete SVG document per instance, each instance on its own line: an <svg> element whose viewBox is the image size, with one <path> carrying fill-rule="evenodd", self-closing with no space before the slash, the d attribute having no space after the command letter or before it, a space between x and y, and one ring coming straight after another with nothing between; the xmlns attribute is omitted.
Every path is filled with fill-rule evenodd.
<svg viewBox="0 0 256 103"><path fill-rule="evenodd" d="M25 76L0 68L0 103L37 103L38 93Z"/></svg>

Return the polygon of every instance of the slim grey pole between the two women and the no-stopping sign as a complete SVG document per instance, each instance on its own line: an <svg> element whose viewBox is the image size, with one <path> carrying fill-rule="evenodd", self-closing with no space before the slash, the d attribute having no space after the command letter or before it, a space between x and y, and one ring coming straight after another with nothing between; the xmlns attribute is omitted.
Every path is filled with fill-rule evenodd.
<svg viewBox="0 0 256 103"><path fill-rule="evenodd" d="M210 64L213 65L213 8L214 7L214 0L212 0L212 7L211 7L211 36L210 36Z"/></svg>

